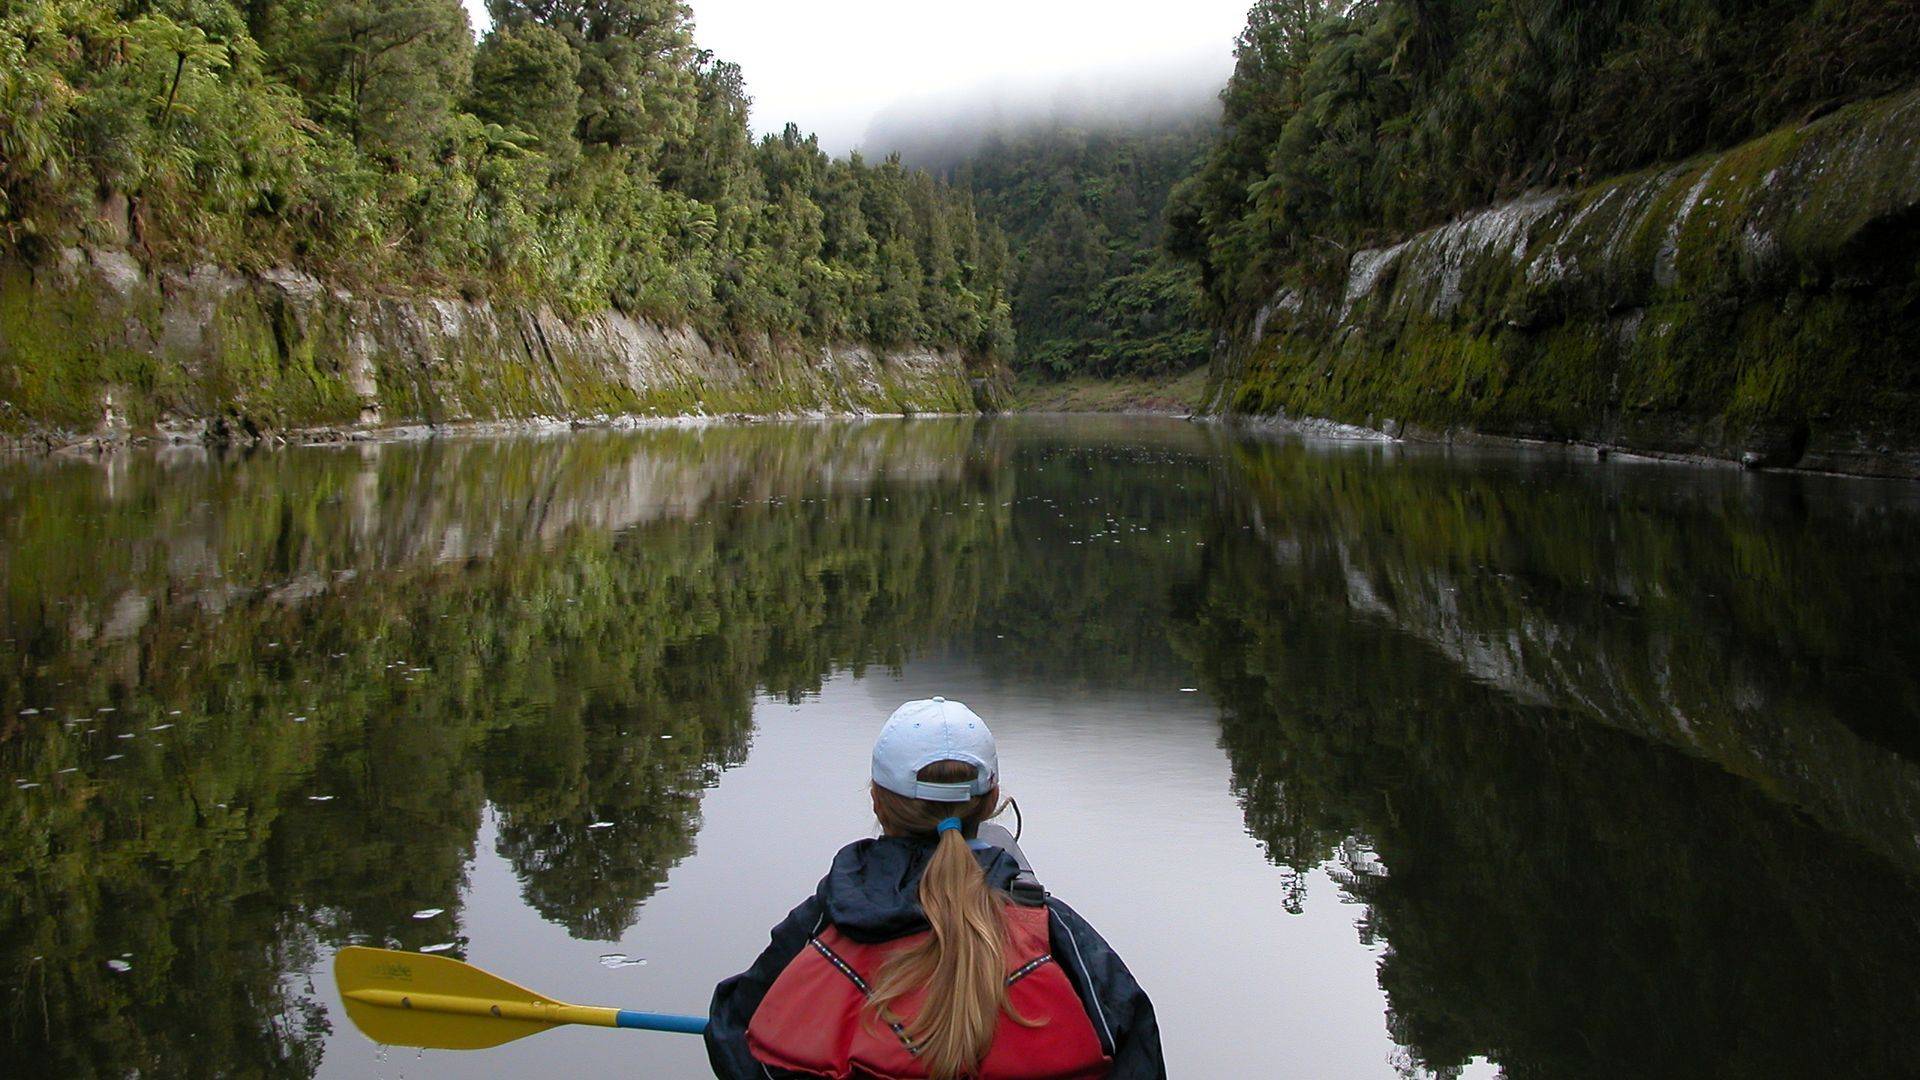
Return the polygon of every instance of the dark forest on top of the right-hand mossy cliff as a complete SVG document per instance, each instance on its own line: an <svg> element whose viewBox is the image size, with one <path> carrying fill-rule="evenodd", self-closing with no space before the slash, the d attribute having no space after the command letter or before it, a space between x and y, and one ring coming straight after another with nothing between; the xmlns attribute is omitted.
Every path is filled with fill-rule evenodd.
<svg viewBox="0 0 1920 1080"><path fill-rule="evenodd" d="M1912 85L1916 56L1912 0L1258 0L1169 244L1244 315L1463 209Z"/></svg>

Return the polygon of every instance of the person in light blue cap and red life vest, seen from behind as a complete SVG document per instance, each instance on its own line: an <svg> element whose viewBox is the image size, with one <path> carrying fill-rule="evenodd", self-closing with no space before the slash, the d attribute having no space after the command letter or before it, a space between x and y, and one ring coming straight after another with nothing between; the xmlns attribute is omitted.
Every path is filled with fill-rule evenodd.
<svg viewBox="0 0 1920 1080"><path fill-rule="evenodd" d="M841 847L812 897L714 990L707 1055L728 1080L1164 1078L1154 1005L1085 919L1020 903L987 723L900 705L874 744L879 840Z"/></svg>

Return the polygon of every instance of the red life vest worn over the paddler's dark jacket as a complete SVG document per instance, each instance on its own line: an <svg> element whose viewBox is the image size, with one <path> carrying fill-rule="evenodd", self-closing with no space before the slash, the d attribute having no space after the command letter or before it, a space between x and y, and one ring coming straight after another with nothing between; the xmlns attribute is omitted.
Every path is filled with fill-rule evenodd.
<svg viewBox="0 0 1920 1080"><path fill-rule="evenodd" d="M1008 903L1006 994L1037 1028L1000 1013L979 1080L1100 1080L1112 1059L1087 1019L1079 994L1046 944L1046 909ZM922 930L866 945L835 926L814 934L768 988L747 1024L747 1047L760 1063L833 1080L924 1080L925 1067L906 1043L906 1024L887 1024L866 1009L874 976L887 959L927 938ZM895 1003L908 1020L925 992Z"/></svg>

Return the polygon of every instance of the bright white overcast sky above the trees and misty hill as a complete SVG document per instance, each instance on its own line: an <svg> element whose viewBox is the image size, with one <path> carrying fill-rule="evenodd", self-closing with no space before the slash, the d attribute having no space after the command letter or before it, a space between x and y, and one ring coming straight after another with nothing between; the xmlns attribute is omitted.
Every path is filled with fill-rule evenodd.
<svg viewBox="0 0 1920 1080"><path fill-rule="evenodd" d="M482 0L467 0L486 27ZM902 98L1043 88L1089 71L1225 79L1252 0L693 0L701 48L739 63L755 131L787 121L831 152Z"/></svg>

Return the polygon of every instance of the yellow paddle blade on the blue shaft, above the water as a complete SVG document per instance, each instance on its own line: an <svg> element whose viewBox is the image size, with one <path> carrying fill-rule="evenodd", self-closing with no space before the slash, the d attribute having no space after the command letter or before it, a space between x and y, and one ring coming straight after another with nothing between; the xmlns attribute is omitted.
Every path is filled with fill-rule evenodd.
<svg viewBox="0 0 1920 1080"><path fill-rule="evenodd" d="M563 1005L451 957L348 945L334 955L348 1019L388 1045L486 1049L566 1024L593 1022Z"/></svg>

